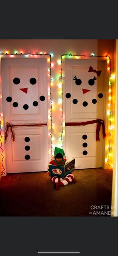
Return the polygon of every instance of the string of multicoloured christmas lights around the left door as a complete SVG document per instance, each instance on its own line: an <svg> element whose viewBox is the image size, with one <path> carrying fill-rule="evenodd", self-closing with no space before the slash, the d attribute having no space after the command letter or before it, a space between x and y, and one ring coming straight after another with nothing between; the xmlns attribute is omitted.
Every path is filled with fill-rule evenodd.
<svg viewBox="0 0 118 256"><path fill-rule="evenodd" d="M39 56L43 56L43 57L48 57L49 56L49 58L47 59L47 61L48 62L50 62L50 67L49 67L49 73L48 73L48 76L50 77L50 92L49 92L49 99L50 99L50 118L48 118L48 122L49 122L49 119L50 119L50 136L51 136L51 138L50 138L50 151L49 151L49 153L51 153L51 156L52 156L52 96L51 96L51 87L52 87L52 76L51 76L51 68L52 68L52 66L53 66L53 64L51 63L51 57L53 57L53 53L46 53L46 52L40 52L40 53L38 53L38 52L35 52L35 53L24 53L23 51L20 51L20 53L18 52L18 51L15 51L14 53L10 53L9 51L5 51L5 53L4 52L0 52L0 57L1 56L9 56L9 57L15 57L15 56L24 56L24 57L39 57ZM0 117L1 117L1 113L0 113ZM0 120L0 136L1 136L1 139L0 139L0 148L1 148L1 150L2 150L2 153L1 153L1 156L2 156L2 159L1 159L1 164L2 164L2 169L3 170L1 170L1 174L6 174L6 172L5 172L5 168L4 168L4 165L3 165L3 160L4 160L4 155L3 155L3 152L4 152L4 149L3 149L3 147L2 147L2 138L3 138L3 136L2 136L2 131L3 131L3 129L2 129L2 127L1 127L1 120Z"/></svg>

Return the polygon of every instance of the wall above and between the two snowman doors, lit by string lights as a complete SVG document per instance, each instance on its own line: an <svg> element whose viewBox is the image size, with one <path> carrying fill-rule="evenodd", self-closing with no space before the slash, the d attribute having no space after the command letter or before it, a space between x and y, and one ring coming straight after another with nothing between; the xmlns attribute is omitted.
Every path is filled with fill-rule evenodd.
<svg viewBox="0 0 118 256"><path fill-rule="evenodd" d="M54 124L52 129L52 146L61 146L61 91L59 88L61 77L61 65L58 64L58 60L61 59L62 54L78 54L78 55L109 55L111 57L112 72L115 71L115 41L116 40L97 40L97 39L61 39L61 40L0 40L0 53L9 51L14 53L15 50L20 53L53 53L52 56L52 71L51 75L54 79L52 81L52 123ZM1 70L1 68L0 68ZM1 72L1 71L0 71ZM0 74L0 86L1 86L1 74ZM58 101L60 99L60 101ZM2 105L1 105L2 107ZM107 163L106 163L107 164Z"/></svg>

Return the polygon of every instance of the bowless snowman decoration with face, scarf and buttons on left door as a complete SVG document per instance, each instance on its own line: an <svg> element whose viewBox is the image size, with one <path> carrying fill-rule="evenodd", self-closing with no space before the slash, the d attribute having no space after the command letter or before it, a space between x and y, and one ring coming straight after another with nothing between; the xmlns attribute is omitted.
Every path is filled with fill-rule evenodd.
<svg viewBox="0 0 118 256"><path fill-rule="evenodd" d="M32 71L32 74L31 74ZM19 73L17 72L17 69L12 70L11 72L11 95L7 95L6 101L10 104L10 112L12 112L12 118L14 118L15 123L19 122L19 125L14 125L14 127L21 127L23 126L23 123L27 124L26 127L29 126L29 123L31 126L37 126L37 122L41 122L43 118L42 117L42 108L40 110L40 102L45 100L44 95L40 95L40 91L44 92L44 90L40 89L42 85L40 85L39 75L38 75L38 69L36 68L22 68L20 67ZM16 119L15 119L16 118ZM11 119L12 120L12 119ZM7 125L7 123L6 123ZM14 133L13 125L10 125L8 123L11 131L11 136ZM45 123L46 126L47 124ZM41 124L40 124L41 126ZM6 127L8 129L9 127ZM8 131L7 131L8 135ZM15 136L12 136L12 138L15 138ZM22 137L21 137L22 138ZM27 128L27 135L24 135L22 145L25 142L25 152L24 155L25 160L31 159L30 154L27 154L27 151L30 152L31 150L31 144L28 145L28 143L31 143L30 134L28 132ZM17 142L16 142L17 143ZM33 141L32 141L33 143ZM33 145L33 144L32 144ZM21 148L19 149L22 150Z"/></svg>

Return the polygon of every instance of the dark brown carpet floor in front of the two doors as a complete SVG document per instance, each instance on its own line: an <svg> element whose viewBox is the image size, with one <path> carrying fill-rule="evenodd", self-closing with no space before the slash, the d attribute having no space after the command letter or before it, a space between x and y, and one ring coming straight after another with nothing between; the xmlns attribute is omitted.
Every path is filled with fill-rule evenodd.
<svg viewBox="0 0 118 256"><path fill-rule="evenodd" d="M110 216L112 170L84 169L73 174L77 182L59 191L47 172L2 176L0 216Z"/></svg>

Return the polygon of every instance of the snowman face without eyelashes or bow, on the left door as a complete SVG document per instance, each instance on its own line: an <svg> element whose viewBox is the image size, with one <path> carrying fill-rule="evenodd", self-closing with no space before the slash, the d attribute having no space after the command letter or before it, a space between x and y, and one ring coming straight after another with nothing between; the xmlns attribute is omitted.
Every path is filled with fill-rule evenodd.
<svg viewBox="0 0 118 256"><path fill-rule="evenodd" d="M18 114L38 113L39 101L44 101L45 96L40 95L40 81L38 69L13 67L11 70L11 95L6 101L12 104L13 112Z"/></svg>

